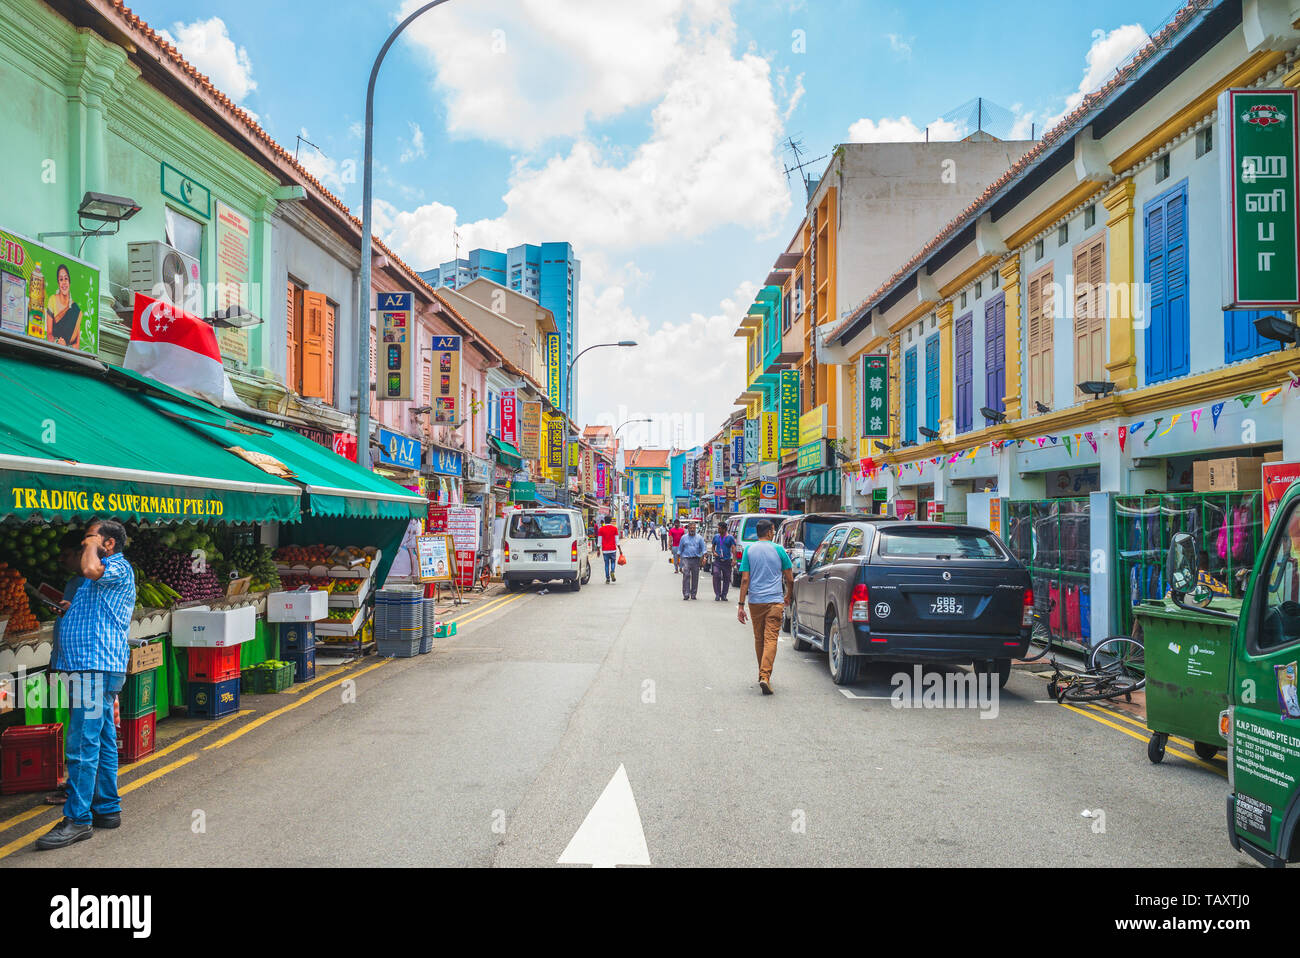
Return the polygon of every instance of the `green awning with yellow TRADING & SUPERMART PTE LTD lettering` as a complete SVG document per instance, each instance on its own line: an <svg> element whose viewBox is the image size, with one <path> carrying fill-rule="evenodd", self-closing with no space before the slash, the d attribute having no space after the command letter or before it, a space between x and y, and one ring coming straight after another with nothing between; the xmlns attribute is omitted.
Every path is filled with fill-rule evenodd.
<svg viewBox="0 0 1300 958"><path fill-rule="evenodd" d="M292 523L300 489L92 369L0 356L0 515Z"/></svg>

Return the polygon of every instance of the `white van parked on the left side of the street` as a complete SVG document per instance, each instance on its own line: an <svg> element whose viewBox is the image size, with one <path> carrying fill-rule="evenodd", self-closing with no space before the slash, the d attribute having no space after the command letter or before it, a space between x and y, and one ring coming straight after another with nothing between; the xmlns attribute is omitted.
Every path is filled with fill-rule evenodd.
<svg viewBox="0 0 1300 958"><path fill-rule="evenodd" d="M511 512L502 545L506 591L559 578L577 591L592 581L586 530L577 510L537 508Z"/></svg>

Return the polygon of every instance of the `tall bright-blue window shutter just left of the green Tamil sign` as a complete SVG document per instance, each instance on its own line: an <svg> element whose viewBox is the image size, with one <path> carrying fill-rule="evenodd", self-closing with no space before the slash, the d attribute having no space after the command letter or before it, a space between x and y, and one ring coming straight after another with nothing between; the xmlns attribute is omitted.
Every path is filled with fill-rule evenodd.
<svg viewBox="0 0 1300 958"><path fill-rule="evenodd" d="M1187 311L1187 183L1143 208L1148 295L1147 382L1165 382L1190 369Z"/></svg>

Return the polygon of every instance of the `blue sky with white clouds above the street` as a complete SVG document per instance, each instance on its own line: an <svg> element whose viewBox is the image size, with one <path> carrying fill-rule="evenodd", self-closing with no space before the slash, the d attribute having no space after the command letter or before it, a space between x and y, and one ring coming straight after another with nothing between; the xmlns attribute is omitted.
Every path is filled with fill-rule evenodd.
<svg viewBox="0 0 1300 958"><path fill-rule="evenodd" d="M360 214L365 82L420 0L133 0ZM448 0L376 95L376 233L416 269L567 240L576 419L693 446L745 387L733 333L837 143L957 139L975 96L1041 135L1176 0ZM299 143L302 136L304 143ZM900 251L900 265L914 251Z"/></svg>

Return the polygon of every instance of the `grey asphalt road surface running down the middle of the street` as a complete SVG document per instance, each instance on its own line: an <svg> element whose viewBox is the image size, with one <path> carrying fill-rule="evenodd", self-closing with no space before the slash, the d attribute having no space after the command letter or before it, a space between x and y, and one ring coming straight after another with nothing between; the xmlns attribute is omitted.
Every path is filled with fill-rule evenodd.
<svg viewBox="0 0 1300 958"><path fill-rule="evenodd" d="M763 695L736 590L682 602L658 543L627 555L615 584L597 563L578 594L503 597L432 655L220 729L125 796L122 828L0 867L1253 867L1225 777L1152 766L1132 721L1043 702L1027 669L996 715L896 708L911 666L849 697L784 636Z"/></svg>

